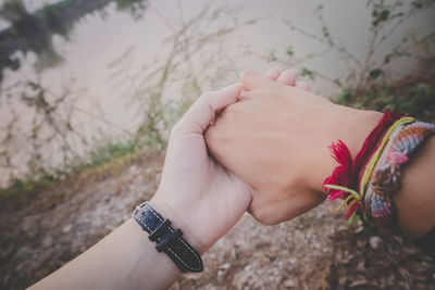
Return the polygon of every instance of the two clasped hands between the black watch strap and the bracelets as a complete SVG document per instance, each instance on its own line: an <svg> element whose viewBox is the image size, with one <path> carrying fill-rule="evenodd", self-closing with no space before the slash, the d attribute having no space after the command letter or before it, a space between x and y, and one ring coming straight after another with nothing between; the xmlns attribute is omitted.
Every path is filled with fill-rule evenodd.
<svg viewBox="0 0 435 290"><path fill-rule="evenodd" d="M290 70L246 72L240 84L202 94L174 126L151 203L200 252L246 210L268 225L294 218L325 199L331 142L359 147L345 130L366 128L340 126L358 123L359 112L309 92Z"/></svg>

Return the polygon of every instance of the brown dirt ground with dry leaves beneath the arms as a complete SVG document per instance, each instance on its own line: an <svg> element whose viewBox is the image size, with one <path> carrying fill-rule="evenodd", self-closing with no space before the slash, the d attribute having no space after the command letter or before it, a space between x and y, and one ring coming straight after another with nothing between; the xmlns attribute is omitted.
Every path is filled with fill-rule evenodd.
<svg viewBox="0 0 435 290"><path fill-rule="evenodd" d="M1 206L0 287L23 289L126 220L156 191L162 152L146 152ZM4 205L4 204L3 204ZM369 236L325 203L277 226L246 214L172 289L435 289L435 263L400 237Z"/></svg>

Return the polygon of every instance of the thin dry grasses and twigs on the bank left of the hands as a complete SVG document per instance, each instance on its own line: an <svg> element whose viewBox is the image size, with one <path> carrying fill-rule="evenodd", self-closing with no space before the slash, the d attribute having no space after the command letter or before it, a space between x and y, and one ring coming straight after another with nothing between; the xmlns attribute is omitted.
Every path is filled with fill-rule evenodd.
<svg viewBox="0 0 435 290"><path fill-rule="evenodd" d="M126 9L124 4L120 3L117 8ZM48 13L47 9L42 10ZM105 164L134 155L144 148L164 149L172 125L201 93L202 87L210 87L210 81L213 81L210 77L212 73L207 68L201 68L201 76L195 75L191 70L191 56L203 49L210 50L222 36L237 28L233 20L233 23L227 22L224 27L216 27L208 34L196 33L200 29L198 26L213 21L217 15L232 18L227 10L211 9L209 5L191 20L183 18L169 38L172 48L170 53L165 53L152 64L141 65L139 71L135 71L136 67L132 65L135 63L134 51L129 49L109 65L112 80L121 84L120 87L124 89L122 96L128 97L125 98L127 105L137 109L139 124L133 131L120 128L104 116L77 106L76 101L83 90L74 89L73 83L67 84L62 93L53 92L38 79L22 80L3 89L3 104L9 106L11 117L8 123L2 124L2 128L0 127L0 133L4 133L4 138L0 135L0 167L12 168L15 166L14 156L25 152L27 174L11 176L11 186L1 190L0 196L9 197L13 191L25 196L26 192L40 191L49 186L48 182L40 182L39 186L39 180L44 181L47 178L54 182L84 171L104 167ZM217 54L215 56L217 60ZM213 61L208 60L207 65L212 65ZM215 67L221 66L216 64ZM164 100L167 83L174 78L182 79L182 96L178 100ZM16 104L24 104L34 115L28 131L20 128L22 116L18 109L15 109ZM95 136L94 133L91 141L85 136L74 123L77 112L86 114L101 125L100 136ZM21 138L29 142L17 143ZM57 154L62 157L62 162L54 166L50 154L50 148L53 146L58 146ZM17 186L22 184L35 184L35 187Z"/></svg>

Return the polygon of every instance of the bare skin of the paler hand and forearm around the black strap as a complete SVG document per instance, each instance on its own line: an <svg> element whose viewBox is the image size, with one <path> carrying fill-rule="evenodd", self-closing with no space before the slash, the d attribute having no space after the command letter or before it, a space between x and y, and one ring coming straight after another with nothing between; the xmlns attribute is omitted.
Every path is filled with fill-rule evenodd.
<svg viewBox="0 0 435 290"><path fill-rule="evenodd" d="M201 96L171 133L162 180L150 203L200 253L241 217L250 188L208 155L202 133L234 103L239 85ZM32 289L166 289L181 275L128 219L88 251Z"/></svg>

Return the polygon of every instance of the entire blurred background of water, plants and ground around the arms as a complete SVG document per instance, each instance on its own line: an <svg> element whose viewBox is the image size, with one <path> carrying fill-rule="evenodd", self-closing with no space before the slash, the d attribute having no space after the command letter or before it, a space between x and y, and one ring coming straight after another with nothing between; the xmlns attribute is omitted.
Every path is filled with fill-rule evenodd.
<svg viewBox="0 0 435 290"><path fill-rule="evenodd" d="M294 67L335 102L434 122L434 64L433 0L0 1L0 287L127 218L156 190L172 125L244 70ZM435 285L409 241L343 227L328 205L268 228L246 216L204 259L174 288Z"/></svg>

